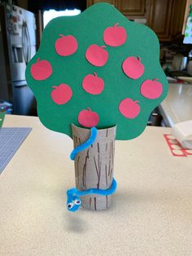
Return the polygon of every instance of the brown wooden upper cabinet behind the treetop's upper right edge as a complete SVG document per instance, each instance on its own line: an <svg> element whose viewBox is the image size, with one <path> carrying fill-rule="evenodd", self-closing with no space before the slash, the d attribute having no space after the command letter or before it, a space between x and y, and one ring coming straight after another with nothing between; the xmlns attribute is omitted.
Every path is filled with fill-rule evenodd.
<svg viewBox="0 0 192 256"><path fill-rule="evenodd" d="M186 0L87 0L87 7L96 2L111 3L128 19L146 19L161 42L182 37Z"/></svg>

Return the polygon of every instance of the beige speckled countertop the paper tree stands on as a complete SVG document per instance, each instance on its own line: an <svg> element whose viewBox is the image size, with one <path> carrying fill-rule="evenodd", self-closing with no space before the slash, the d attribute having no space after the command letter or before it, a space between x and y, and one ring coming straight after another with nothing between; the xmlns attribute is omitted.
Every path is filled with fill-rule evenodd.
<svg viewBox="0 0 192 256"><path fill-rule="evenodd" d="M72 140L37 117L7 116L4 126L33 130L0 176L2 256L192 255L192 156L172 157L169 128L116 142L111 209L69 213Z"/></svg>

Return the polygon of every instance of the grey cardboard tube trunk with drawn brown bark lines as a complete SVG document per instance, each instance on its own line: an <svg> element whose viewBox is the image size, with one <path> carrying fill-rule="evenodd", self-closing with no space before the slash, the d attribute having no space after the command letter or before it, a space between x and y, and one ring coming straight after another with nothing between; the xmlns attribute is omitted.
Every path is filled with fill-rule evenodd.
<svg viewBox="0 0 192 256"><path fill-rule="evenodd" d="M72 125L74 148L89 139L90 130ZM75 158L76 188L108 189L113 179L116 126L98 130L97 138L89 148ZM111 205L111 195L81 196L82 207L89 210L105 210Z"/></svg>

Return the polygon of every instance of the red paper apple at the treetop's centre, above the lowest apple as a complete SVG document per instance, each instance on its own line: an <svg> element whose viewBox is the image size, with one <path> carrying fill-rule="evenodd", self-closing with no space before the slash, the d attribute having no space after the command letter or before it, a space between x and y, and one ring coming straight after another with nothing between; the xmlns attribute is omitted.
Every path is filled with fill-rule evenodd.
<svg viewBox="0 0 192 256"><path fill-rule="evenodd" d="M99 95L104 89L104 81L94 72L94 75L89 74L84 77L82 86L89 94Z"/></svg>

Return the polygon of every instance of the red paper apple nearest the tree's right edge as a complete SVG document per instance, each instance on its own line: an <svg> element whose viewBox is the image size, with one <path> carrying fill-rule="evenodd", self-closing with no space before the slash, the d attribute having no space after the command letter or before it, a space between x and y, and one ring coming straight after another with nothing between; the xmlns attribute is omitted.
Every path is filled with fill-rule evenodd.
<svg viewBox="0 0 192 256"><path fill-rule="evenodd" d="M148 99L157 99L163 92L163 85L157 82L158 78L147 79L142 83L141 94Z"/></svg>

